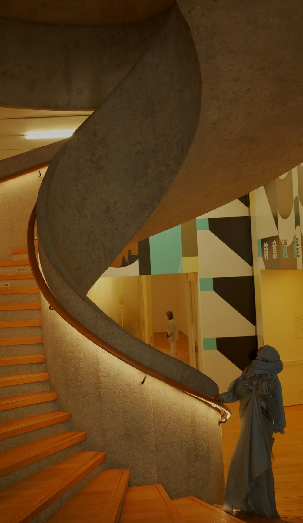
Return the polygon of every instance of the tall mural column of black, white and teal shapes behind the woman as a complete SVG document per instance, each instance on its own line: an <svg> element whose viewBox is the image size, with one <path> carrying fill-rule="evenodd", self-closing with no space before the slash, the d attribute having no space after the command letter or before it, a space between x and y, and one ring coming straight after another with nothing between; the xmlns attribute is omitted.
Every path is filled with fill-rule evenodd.
<svg viewBox="0 0 303 523"><path fill-rule="evenodd" d="M197 218L203 372L226 384L257 347L249 196Z"/></svg>

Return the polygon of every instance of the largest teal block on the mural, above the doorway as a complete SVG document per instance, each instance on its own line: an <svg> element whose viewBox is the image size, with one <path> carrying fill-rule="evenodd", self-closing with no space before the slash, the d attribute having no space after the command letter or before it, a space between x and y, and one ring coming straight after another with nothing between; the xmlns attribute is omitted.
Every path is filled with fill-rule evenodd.
<svg viewBox="0 0 303 523"><path fill-rule="evenodd" d="M152 274L183 272L181 225L149 238Z"/></svg>

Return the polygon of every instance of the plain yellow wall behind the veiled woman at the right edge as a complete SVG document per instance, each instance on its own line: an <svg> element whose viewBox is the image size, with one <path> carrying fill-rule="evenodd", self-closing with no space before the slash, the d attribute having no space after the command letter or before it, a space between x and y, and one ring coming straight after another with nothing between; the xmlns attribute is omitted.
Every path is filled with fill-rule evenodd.
<svg viewBox="0 0 303 523"><path fill-rule="evenodd" d="M284 405L303 403L303 270L261 270L264 344L275 347Z"/></svg>

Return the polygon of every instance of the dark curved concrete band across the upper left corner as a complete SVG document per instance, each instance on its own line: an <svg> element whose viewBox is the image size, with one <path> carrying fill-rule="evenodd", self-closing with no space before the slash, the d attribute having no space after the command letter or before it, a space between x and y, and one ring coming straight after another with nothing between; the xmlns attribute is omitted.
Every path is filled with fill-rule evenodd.
<svg viewBox="0 0 303 523"><path fill-rule="evenodd" d="M166 16L102 27L0 18L0 104L96 109L150 46Z"/></svg>

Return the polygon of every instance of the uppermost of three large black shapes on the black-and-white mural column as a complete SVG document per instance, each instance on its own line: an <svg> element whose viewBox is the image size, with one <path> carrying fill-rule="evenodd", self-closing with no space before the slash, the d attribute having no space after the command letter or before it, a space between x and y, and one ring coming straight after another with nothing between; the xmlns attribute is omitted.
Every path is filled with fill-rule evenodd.
<svg viewBox="0 0 303 523"><path fill-rule="evenodd" d="M209 231L252 266L250 217L209 218Z"/></svg>

